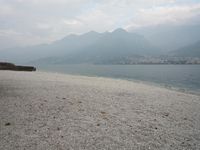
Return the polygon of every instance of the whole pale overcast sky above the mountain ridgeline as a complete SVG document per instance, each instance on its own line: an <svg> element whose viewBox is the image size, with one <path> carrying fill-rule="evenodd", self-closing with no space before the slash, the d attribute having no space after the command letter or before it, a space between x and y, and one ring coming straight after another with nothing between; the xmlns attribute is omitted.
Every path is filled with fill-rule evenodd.
<svg viewBox="0 0 200 150"><path fill-rule="evenodd" d="M200 0L0 0L0 49L90 30L187 24L199 16Z"/></svg>

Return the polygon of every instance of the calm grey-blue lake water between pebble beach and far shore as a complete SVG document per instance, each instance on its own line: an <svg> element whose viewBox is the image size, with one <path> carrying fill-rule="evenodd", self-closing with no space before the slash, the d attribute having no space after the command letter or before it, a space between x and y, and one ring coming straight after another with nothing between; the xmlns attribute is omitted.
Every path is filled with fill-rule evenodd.
<svg viewBox="0 0 200 150"><path fill-rule="evenodd" d="M200 93L200 65L51 65L39 70L137 80Z"/></svg>

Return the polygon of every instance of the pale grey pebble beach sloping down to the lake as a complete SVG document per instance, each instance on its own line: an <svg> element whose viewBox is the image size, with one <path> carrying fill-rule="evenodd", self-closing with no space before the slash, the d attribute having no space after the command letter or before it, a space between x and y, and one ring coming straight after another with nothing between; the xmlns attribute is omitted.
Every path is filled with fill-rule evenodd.
<svg viewBox="0 0 200 150"><path fill-rule="evenodd" d="M0 71L0 150L197 150L200 96L124 80Z"/></svg>

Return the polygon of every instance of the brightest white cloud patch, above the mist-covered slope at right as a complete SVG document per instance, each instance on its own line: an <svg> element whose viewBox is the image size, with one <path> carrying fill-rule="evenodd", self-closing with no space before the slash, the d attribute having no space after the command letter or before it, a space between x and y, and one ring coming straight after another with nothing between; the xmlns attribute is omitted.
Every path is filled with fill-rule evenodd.
<svg viewBox="0 0 200 150"><path fill-rule="evenodd" d="M198 15L200 15L200 4L140 9L126 28L134 29L158 24L181 24Z"/></svg>

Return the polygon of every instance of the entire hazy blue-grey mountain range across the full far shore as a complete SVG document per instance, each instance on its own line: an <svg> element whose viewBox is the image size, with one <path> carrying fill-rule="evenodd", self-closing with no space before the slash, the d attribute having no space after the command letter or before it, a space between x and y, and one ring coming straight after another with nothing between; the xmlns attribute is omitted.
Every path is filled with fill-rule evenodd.
<svg viewBox="0 0 200 150"><path fill-rule="evenodd" d="M51 44L1 51L0 59L25 64L112 64L161 55L200 57L200 28L197 27L161 26L135 32L116 29L113 32L71 34Z"/></svg>

